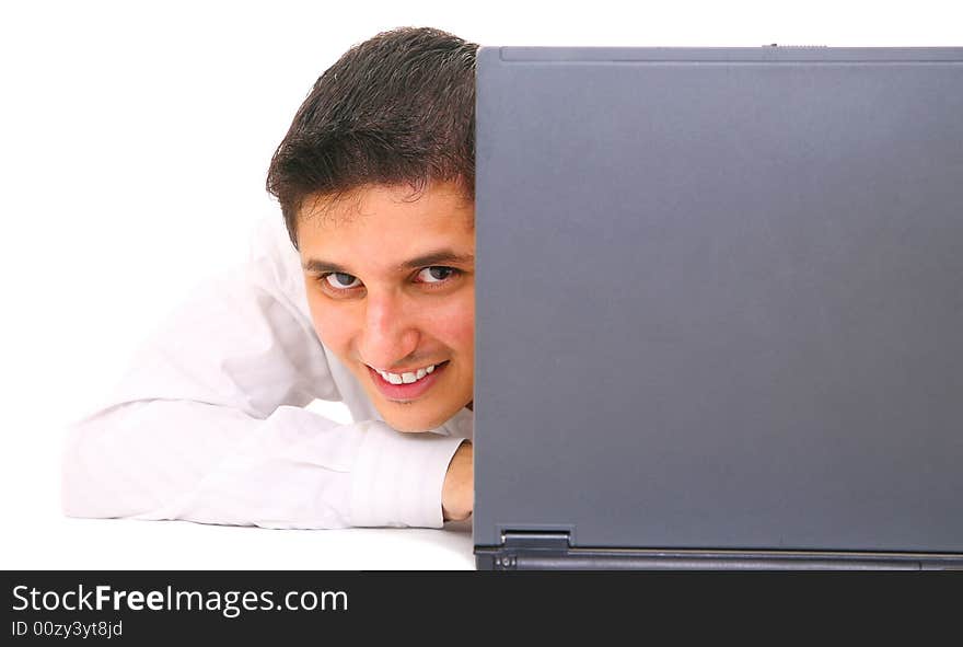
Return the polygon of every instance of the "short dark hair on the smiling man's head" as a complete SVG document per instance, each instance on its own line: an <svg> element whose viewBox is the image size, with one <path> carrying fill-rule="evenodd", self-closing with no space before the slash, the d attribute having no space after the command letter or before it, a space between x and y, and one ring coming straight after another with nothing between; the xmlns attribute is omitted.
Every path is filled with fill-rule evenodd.
<svg viewBox="0 0 963 647"><path fill-rule="evenodd" d="M454 181L474 200L477 49L440 30L399 27L355 45L317 79L267 175L295 247L310 196Z"/></svg>

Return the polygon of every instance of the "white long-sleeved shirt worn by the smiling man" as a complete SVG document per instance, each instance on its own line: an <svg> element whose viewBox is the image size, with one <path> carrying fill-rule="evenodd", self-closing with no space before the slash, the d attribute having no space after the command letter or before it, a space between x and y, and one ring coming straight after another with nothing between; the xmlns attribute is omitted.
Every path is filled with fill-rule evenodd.
<svg viewBox="0 0 963 647"><path fill-rule="evenodd" d="M340 425L304 407L344 402ZM448 465L472 438L388 427L317 338L300 258L280 217L251 258L194 290L139 349L103 406L71 425L70 517L184 519L264 528L441 528Z"/></svg>

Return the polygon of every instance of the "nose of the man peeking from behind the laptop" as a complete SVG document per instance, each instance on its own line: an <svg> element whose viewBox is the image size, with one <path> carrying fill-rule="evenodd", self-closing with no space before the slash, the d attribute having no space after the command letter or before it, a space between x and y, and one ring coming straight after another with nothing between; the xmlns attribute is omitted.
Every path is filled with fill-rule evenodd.
<svg viewBox="0 0 963 647"><path fill-rule="evenodd" d="M366 363L391 369L415 351L419 333L413 305L403 294L369 290L359 347Z"/></svg>

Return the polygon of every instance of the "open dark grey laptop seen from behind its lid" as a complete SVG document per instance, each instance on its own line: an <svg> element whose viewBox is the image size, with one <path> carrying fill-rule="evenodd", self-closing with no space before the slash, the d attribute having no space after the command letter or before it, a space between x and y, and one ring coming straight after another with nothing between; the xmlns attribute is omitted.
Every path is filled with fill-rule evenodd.
<svg viewBox="0 0 963 647"><path fill-rule="evenodd" d="M963 567L963 48L483 47L479 569Z"/></svg>

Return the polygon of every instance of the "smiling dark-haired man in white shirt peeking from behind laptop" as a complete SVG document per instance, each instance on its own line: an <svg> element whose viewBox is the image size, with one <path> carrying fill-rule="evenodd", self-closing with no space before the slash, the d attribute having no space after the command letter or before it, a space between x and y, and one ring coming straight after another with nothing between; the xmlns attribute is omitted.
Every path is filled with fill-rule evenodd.
<svg viewBox="0 0 963 647"><path fill-rule="evenodd" d="M476 49L401 28L322 74L268 173L286 227L199 288L71 427L67 515L469 517ZM305 409L315 398L355 423Z"/></svg>

